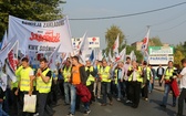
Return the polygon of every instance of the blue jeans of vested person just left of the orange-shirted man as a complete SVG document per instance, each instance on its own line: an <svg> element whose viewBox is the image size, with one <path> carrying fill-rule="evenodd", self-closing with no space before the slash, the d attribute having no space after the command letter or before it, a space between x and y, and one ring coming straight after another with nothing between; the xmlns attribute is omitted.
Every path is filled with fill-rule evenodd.
<svg viewBox="0 0 186 116"><path fill-rule="evenodd" d="M64 82L64 96L65 96L65 104L70 104L70 87L71 84L69 82Z"/></svg>

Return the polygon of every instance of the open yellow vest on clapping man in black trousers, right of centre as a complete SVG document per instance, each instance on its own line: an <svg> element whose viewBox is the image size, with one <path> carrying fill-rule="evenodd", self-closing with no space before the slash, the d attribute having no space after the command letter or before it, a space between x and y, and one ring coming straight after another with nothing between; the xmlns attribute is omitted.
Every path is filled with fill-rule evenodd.
<svg viewBox="0 0 186 116"><path fill-rule="evenodd" d="M132 66L128 68L128 71L132 71ZM141 76L141 72L142 72L142 68L138 66L138 70L136 71L136 81L137 82L143 82L143 78L142 78L142 76ZM130 75L130 77L128 77L128 82L132 82L132 80L133 80L133 73Z"/></svg>

